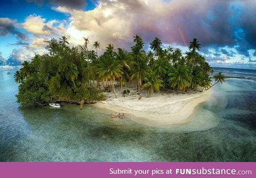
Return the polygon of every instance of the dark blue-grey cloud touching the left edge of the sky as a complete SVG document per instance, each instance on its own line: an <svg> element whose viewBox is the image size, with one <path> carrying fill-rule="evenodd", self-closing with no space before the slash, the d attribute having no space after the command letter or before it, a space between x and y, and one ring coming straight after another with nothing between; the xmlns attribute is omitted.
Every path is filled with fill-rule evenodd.
<svg viewBox="0 0 256 178"><path fill-rule="evenodd" d="M9 18L0 18L0 36L14 35L19 40L28 40L28 37L18 30L18 23Z"/></svg>

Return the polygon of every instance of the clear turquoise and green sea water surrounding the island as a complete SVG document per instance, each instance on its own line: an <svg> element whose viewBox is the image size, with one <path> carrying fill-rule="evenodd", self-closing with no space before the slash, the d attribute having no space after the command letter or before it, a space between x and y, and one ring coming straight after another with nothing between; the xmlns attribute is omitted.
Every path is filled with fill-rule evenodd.
<svg viewBox="0 0 256 178"><path fill-rule="evenodd" d="M219 71L246 79L213 86L189 124L155 128L93 105L23 108L15 70L2 69L0 161L256 161L256 70Z"/></svg>

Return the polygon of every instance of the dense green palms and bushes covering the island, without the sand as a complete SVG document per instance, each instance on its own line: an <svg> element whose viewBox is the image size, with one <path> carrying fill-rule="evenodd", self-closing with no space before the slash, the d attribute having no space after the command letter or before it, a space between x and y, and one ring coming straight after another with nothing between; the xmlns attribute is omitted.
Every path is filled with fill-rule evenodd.
<svg viewBox="0 0 256 178"><path fill-rule="evenodd" d="M197 39L190 42L189 50L182 55L179 48L163 48L161 39L154 38L150 43L153 52L143 50L141 36L133 37L134 46L130 52L108 44L106 51L98 56L99 42L89 51L89 38L84 45L70 47L67 38L47 41L47 54L36 55L30 62L22 63L22 68L14 75L19 83L18 102L44 104L54 101L86 103L104 100L101 91L108 88L116 95L115 85L121 86L123 94L129 94L126 84L134 82L138 94L147 88L148 94L159 92L161 88L186 92L188 88L209 89L225 82L221 73L210 77L213 70L198 53L201 45ZM215 80L212 85L211 79ZM94 85L97 83L97 86ZM100 88L102 83L103 88ZM123 90L123 85L125 90Z"/></svg>

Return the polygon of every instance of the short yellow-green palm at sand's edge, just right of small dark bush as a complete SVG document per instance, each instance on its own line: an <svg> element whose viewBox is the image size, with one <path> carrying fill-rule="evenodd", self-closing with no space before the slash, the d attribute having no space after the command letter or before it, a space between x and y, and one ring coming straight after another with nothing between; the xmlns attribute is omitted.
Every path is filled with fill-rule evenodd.
<svg viewBox="0 0 256 178"><path fill-rule="evenodd" d="M141 88L148 87L148 96L149 93L154 93L154 91L159 92L160 87L162 87L163 80L159 79L159 76L154 72L151 72L147 77L144 78L145 84Z"/></svg>

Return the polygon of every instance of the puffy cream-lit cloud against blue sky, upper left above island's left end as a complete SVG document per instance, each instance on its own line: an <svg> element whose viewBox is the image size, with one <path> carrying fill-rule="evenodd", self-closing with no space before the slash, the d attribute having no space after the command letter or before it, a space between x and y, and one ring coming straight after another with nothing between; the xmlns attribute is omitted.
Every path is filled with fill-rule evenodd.
<svg viewBox="0 0 256 178"><path fill-rule="evenodd" d="M50 20L46 22L40 15L29 15L23 23L23 28L36 36L60 36L65 33L63 21Z"/></svg>

